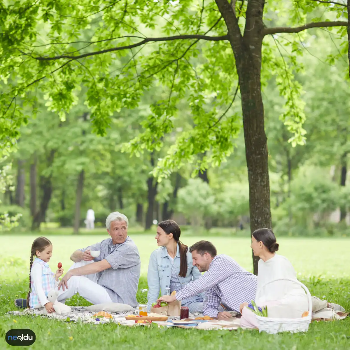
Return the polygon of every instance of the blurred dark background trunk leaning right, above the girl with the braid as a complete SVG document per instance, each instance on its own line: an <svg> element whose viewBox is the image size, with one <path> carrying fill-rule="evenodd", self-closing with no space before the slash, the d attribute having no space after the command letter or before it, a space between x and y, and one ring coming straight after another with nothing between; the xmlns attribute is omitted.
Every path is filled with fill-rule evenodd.
<svg viewBox="0 0 350 350"><path fill-rule="evenodd" d="M54 161L56 150L52 149L50 155L48 156L48 167L50 167ZM40 190L41 190L41 200L40 208L33 216L33 221L31 224L31 230L40 229L40 224L45 221L46 211L49 207L49 203L52 195L52 174L48 177L40 176Z"/></svg>

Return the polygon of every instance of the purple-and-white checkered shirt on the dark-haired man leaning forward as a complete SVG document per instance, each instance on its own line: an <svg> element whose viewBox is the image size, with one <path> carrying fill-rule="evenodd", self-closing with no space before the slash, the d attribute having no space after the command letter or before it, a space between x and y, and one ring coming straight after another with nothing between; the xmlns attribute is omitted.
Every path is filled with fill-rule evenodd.
<svg viewBox="0 0 350 350"><path fill-rule="evenodd" d="M220 254L212 260L207 272L176 293L176 299L205 291L204 315L217 317L221 303L229 310L239 312L241 303L255 300L257 280L257 276L243 269L231 257Z"/></svg>

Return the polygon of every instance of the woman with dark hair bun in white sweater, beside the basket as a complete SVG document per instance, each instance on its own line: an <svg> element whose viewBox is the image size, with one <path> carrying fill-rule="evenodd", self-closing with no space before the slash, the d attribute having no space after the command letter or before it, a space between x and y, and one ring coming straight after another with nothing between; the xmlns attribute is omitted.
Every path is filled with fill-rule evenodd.
<svg viewBox="0 0 350 350"><path fill-rule="evenodd" d="M255 297L257 306L261 308L267 306L268 317L272 318L302 317L304 311L308 311L306 292L297 283L280 280L287 278L297 281L295 270L289 260L275 253L278 250L278 243L272 230L255 230L251 247L253 254L260 258ZM251 306L243 303L240 310L241 326L258 328L256 315L252 312Z"/></svg>

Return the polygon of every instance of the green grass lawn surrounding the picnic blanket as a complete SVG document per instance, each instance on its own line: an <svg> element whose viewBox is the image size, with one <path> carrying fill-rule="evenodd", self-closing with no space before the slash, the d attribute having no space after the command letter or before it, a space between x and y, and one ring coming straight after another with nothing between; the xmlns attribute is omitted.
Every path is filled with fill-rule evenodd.
<svg viewBox="0 0 350 350"><path fill-rule="evenodd" d="M79 247L86 247L103 239L102 235L52 235L43 232L53 243L50 266L55 270L62 262L70 266L69 256ZM154 235L132 235L141 255L141 278L138 300L145 302L147 293L147 265L150 253L156 248ZM86 325L63 323L44 317L12 317L5 313L14 309L16 296L28 292L29 254L33 235L0 235L0 349L10 348L4 340L12 328L29 328L36 334L33 349L350 349L350 317L343 321L312 323L306 334L270 336L258 331L198 331L184 329L127 328L116 324ZM107 236L106 236L107 237ZM231 255L251 271L249 238L200 237L183 235L188 245L201 239L212 241L218 253ZM346 238L281 238L279 253L288 257L299 279L312 295L342 304L350 311L350 239ZM87 304L81 297L69 300L71 305Z"/></svg>

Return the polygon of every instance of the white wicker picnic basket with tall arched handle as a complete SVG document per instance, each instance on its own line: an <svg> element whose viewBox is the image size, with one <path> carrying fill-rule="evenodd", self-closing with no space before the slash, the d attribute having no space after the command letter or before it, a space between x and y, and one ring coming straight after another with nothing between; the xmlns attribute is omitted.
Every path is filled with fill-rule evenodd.
<svg viewBox="0 0 350 350"><path fill-rule="evenodd" d="M312 301L311 301L311 294L309 290L301 282L297 280L291 280L288 278L281 278L278 280L270 281L266 283L265 286L275 281L290 281L290 282L299 284L306 292L308 303L309 303L309 314L306 317L300 317L300 318L272 318L272 317L256 316L259 324L259 332L265 331L269 334L276 334L279 332L291 332L291 333L307 332L309 329L311 318L312 318ZM257 295L258 295L258 292L257 292Z"/></svg>

